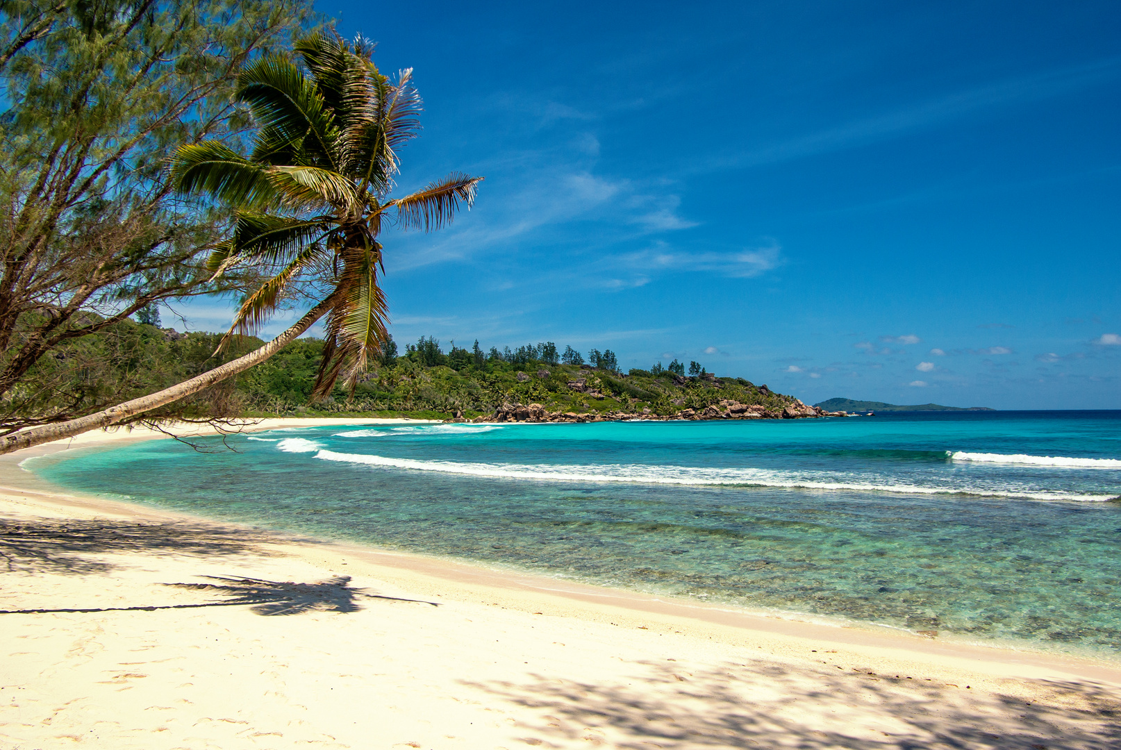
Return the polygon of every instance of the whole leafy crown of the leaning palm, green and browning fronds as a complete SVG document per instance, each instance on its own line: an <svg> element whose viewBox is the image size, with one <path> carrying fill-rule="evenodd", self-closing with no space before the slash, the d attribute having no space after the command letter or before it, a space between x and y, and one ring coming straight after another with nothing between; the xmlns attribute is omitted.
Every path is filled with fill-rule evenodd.
<svg viewBox="0 0 1121 750"><path fill-rule="evenodd" d="M297 281L318 281L327 290L326 345L313 399L330 395L340 376L353 392L387 339L378 284L382 222L436 230L461 204L471 207L482 180L452 173L411 195L390 196L397 151L420 128L420 98L411 70L391 81L378 72L372 52L361 38L314 35L295 44L295 58L254 62L237 93L259 126L249 156L203 141L183 146L172 159L177 189L233 209L232 235L207 260L215 277L235 266L268 269L226 340L256 330Z"/></svg>

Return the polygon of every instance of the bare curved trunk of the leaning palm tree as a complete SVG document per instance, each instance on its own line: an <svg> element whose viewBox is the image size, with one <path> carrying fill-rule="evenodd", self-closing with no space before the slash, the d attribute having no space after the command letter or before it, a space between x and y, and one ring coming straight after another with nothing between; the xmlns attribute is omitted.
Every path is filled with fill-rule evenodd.
<svg viewBox="0 0 1121 750"><path fill-rule="evenodd" d="M304 317L299 318L299 322L296 323L296 325L291 326L260 349L257 349L244 357L240 357L232 362L226 362L221 367L216 367L213 370L192 378L191 380L184 380L183 382L172 386L170 388L165 388L156 393L141 396L140 398L135 398L131 401L124 401L123 404L111 406L104 411L98 411L96 414L91 414L77 419L71 419L68 422L61 422L56 425L44 425L43 427L25 429L22 432L15 433L13 435L8 435L7 437L0 438L0 454L11 453L12 451L18 451L20 448L29 448L35 445L41 445L43 443L49 443L50 441L74 437L75 435L81 435L82 433L91 429L98 429L100 427L110 427L122 419L135 417L138 414L150 411L155 408L164 406L165 404L172 404L173 401L177 401L180 398L191 396L192 393L197 393L204 388L209 388L210 386L221 382L231 376L235 376L239 372L248 370L254 364L269 359L284 349L294 339L298 337L302 333L312 327L316 321L323 317L326 312L332 308L332 306L337 304L335 297L337 297L337 294L331 295L309 309Z"/></svg>

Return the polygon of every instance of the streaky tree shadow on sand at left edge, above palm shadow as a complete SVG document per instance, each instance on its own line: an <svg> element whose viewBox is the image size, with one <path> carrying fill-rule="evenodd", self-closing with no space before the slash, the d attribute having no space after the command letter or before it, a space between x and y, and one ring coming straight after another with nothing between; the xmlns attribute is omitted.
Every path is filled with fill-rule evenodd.
<svg viewBox="0 0 1121 750"><path fill-rule="evenodd" d="M213 558L257 550L276 539L268 531L192 521L0 519L0 571L106 573L113 565L85 556L143 552Z"/></svg>

